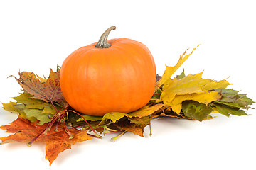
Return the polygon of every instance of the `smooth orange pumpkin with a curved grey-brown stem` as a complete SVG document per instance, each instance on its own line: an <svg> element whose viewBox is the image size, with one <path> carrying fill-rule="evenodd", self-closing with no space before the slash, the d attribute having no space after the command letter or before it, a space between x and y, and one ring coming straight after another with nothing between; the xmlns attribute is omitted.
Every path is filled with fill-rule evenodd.
<svg viewBox="0 0 256 170"><path fill-rule="evenodd" d="M129 113L145 106L154 94L156 66L146 45L128 38L99 42L71 53L60 69L60 89L76 111L102 116Z"/></svg>

